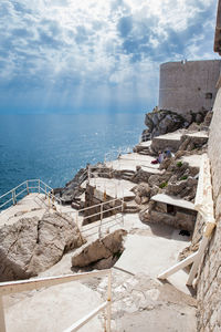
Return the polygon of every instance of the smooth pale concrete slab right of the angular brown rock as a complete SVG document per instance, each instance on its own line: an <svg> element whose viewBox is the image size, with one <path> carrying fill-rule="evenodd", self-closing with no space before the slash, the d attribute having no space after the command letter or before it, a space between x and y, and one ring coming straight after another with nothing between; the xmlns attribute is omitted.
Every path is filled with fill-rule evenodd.
<svg viewBox="0 0 221 332"><path fill-rule="evenodd" d="M128 235L125 241L125 251L116 262L115 267L130 273L145 273L154 279L162 271L178 262L179 252L190 242L173 238L151 237L141 235ZM187 273L179 273L170 277L169 281L181 291L189 293L186 287Z"/></svg>

